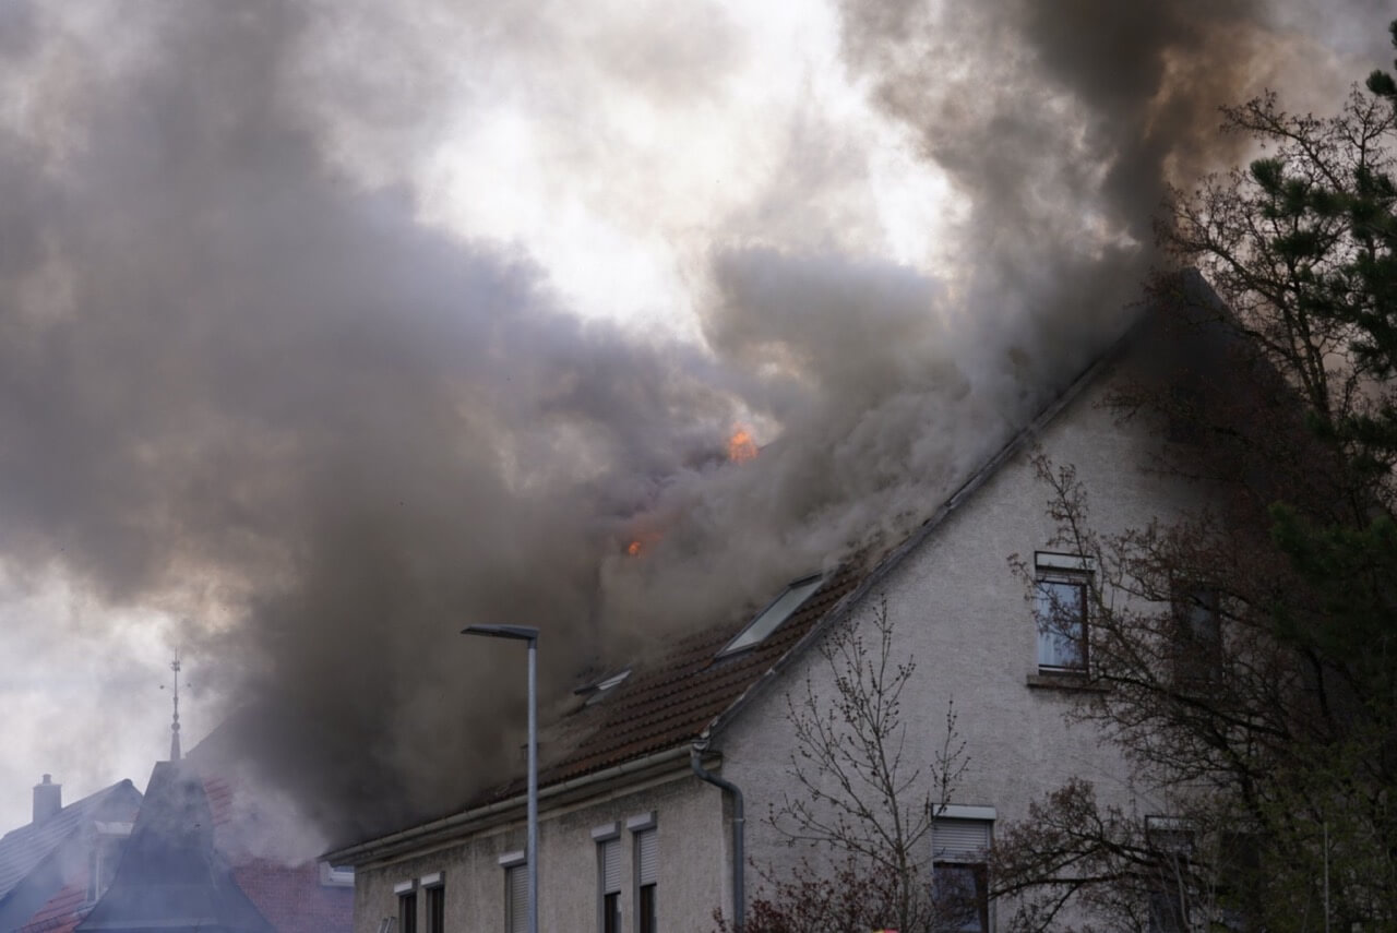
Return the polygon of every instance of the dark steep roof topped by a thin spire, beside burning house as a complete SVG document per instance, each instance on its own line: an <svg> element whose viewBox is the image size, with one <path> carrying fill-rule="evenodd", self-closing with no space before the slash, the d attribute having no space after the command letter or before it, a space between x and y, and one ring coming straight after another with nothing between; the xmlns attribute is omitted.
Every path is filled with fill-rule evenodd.
<svg viewBox="0 0 1397 933"><path fill-rule="evenodd" d="M203 777L159 761L112 887L77 930L272 933L214 848Z"/></svg>

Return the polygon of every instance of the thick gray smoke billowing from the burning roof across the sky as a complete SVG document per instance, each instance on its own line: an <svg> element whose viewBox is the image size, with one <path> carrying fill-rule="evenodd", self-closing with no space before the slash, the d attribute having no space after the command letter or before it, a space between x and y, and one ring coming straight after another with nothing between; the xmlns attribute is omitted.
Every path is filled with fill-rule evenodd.
<svg viewBox="0 0 1397 933"><path fill-rule="evenodd" d="M0 560L197 620L275 711L242 747L337 837L440 810L515 740L517 672L462 624L542 626L562 682L728 617L921 518L1122 325L1162 182L1274 46L1255 4L1119 6L849 6L851 64L968 198L965 267L715 243L700 348L581 323L349 172L434 94L306 66L349 7L4 0ZM728 462L753 416L780 437Z"/></svg>

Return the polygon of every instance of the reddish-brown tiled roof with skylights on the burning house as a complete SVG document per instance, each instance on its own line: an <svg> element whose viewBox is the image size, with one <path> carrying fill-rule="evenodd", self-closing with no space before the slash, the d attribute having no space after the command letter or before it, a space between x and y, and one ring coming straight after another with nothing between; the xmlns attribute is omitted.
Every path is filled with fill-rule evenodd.
<svg viewBox="0 0 1397 933"><path fill-rule="evenodd" d="M1207 285L1201 278L1186 281L1186 288ZM1211 293L1210 289L1207 289ZM648 663L637 663L633 673L612 696L577 708L545 733L548 746L559 749L545 754L539 767L539 788L576 782L623 767L650 756L685 749L719 732L742 708L759 696L775 676L817 641L823 633L859 605L879 582L914 549L932 535L986 479L1016 453L1032 443L1042 430L1067 408L1085 387L1113 366L1125 349L1140 339L1143 316L1134 327L1101 353L1025 427L1017 432L985 464L947 497L939 508L901 542L875 553L861 553L830 573L820 588L775 633L754 648L717 658L738 631L750 620L746 616L729 624L696 631L679 638L672 648ZM434 835L467 825L474 814L495 813L506 802L521 805L522 775L490 788L472 800L464 811L423 823L411 830L376 837L328 853L337 863L355 863L415 838Z"/></svg>

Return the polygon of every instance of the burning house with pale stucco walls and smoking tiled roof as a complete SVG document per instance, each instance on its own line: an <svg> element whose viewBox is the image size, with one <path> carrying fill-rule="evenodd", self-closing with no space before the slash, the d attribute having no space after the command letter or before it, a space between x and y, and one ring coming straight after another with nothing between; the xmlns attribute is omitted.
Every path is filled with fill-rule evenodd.
<svg viewBox="0 0 1397 933"><path fill-rule="evenodd" d="M1132 331L894 546L813 566L745 617L578 684L543 729L539 929L708 929L714 909L732 918L760 877L793 867L799 849L767 820L799 793L788 697L805 684L830 696L833 675L813 645L835 627L868 626L876 603L893 624L893 656L919 665L901 697L909 753L930 763L951 701L965 742L967 771L939 809L940 848L928 853L937 863L982 877L996 824L1025 817L1069 778L1120 806L1164 806L1129 789L1129 768L1102 735L1065 722L1070 700L1090 689L1084 605L1074 630L1044 634L1007 566L1025 556L1039 580L1066 588L1091 573L1051 543L1034 450L1077 465L1105 527L1197 501L1182 480L1146 469L1161 439L1099 404L1158 355L1158 339L1144 324ZM455 811L332 852L356 870L355 929L524 929L524 805L515 771ZM989 930L1011 906L982 888L979 898L961 929Z"/></svg>

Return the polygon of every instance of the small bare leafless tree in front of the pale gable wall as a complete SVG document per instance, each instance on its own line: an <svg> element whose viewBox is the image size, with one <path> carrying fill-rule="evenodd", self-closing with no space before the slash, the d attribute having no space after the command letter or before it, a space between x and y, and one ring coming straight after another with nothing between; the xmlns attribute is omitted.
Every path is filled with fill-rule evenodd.
<svg viewBox="0 0 1397 933"><path fill-rule="evenodd" d="M894 654L886 601L833 630L817 652L833 690L812 675L787 696L791 791L767 814L802 858L781 877L759 866L770 888L753 904L747 932L964 929L977 892L937 884L932 858L935 820L970 763L954 705L926 761L908 746L902 718L916 662Z"/></svg>

